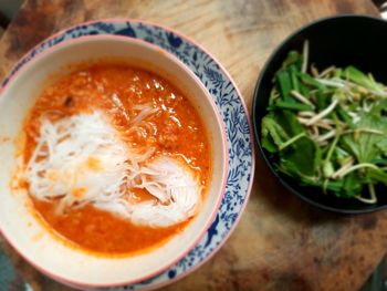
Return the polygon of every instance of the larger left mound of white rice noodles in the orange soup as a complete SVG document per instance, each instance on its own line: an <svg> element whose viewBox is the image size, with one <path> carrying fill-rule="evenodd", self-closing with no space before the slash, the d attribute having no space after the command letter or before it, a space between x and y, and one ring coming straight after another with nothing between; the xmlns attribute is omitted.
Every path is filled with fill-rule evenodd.
<svg viewBox="0 0 387 291"><path fill-rule="evenodd" d="M38 199L62 197L62 211L124 195L130 150L101 113L43 118L36 143L25 178Z"/></svg>

